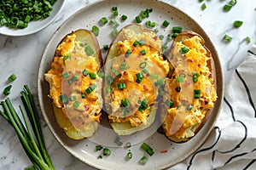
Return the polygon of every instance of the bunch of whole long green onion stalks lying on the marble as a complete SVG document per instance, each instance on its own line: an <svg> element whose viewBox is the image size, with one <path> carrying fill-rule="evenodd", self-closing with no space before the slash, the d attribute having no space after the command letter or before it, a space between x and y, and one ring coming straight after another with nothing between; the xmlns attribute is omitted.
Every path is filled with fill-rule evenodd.
<svg viewBox="0 0 256 170"><path fill-rule="evenodd" d="M18 113L15 111L15 108L9 98L1 102L3 111L0 110L0 115L3 116L3 118L15 128L15 132L20 139L20 143L22 144L23 149L26 151L26 155L33 164L31 167L26 167L25 169L54 170L55 167L49 158L44 144L44 136L39 122L38 111L36 109L31 91L27 85L25 85L24 89L20 92L20 97L26 111L26 116L31 124L32 131L25 116L24 109L19 106L25 125L21 122L20 116L18 116Z"/></svg>

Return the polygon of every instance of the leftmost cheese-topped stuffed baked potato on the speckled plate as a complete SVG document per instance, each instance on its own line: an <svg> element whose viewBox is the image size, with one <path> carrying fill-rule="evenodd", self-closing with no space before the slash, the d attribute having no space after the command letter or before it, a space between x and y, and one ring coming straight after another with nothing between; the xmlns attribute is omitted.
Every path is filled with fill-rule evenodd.
<svg viewBox="0 0 256 170"><path fill-rule="evenodd" d="M55 118L71 139L91 137L102 116L102 55L96 36L77 30L64 37L55 49L49 82Z"/></svg>

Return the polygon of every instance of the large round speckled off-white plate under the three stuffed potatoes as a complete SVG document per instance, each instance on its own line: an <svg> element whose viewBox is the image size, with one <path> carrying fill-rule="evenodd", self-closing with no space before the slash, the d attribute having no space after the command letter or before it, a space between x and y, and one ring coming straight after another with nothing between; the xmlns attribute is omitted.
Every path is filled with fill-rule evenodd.
<svg viewBox="0 0 256 170"><path fill-rule="evenodd" d="M112 7L117 6L119 8L119 16L113 17ZM189 29L198 32L206 41L207 47L212 52L212 58L215 61L215 68L217 71L217 88L218 88L218 101L209 117L206 125L201 129L200 133L197 133L193 139L183 144L175 144L160 133L156 132L154 126L149 127L147 130L140 133L133 134L131 136L120 137L120 141L125 144L131 142L130 149L125 147L118 147L114 143L117 135L113 133L112 129L108 127L108 123L102 122L102 126L99 127L96 134L90 139L73 140L67 138L67 135L61 130L55 121L55 116L52 110L51 101L48 97L49 84L44 80L44 73L49 71L50 63L55 54L55 48L71 31L75 31L81 28L91 30L91 27L96 25L100 27L100 34L98 40L100 46L109 44L113 37L110 35L110 31L113 30L111 24L105 26L99 25L99 20L103 16L108 19L115 19L119 22L122 28L131 23L135 23L134 16L137 16L140 11L146 8L153 8L153 12L149 14L148 19L144 19L141 24L144 24L146 20L151 20L159 23L159 34L167 35L171 33L172 26L182 26L183 29ZM126 14L128 19L124 21L120 20L120 16ZM169 20L170 25L167 28L161 27L164 20ZM102 50L104 57L104 52ZM77 13L73 14L67 19L62 26L55 31L55 34L49 40L48 45L45 48L39 72L38 72L38 98L40 107L42 109L44 119L49 126L50 131L54 134L55 138L60 144L69 151L73 156L77 157L80 161L89 164L92 167L100 169L162 169L171 167L179 161L183 161L186 157L190 156L197 150L201 144L207 139L207 136L211 132L215 121L217 120L219 107L223 98L223 77L222 71L218 60L218 54L212 45L211 40L207 37L205 31L202 30L195 20L192 20L189 15L184 14L177 8L172 7L169 4L162 3L160 1L152 0L105 0L92 3L85 8L82 8ZM146 142L154 149L154 156L148 156L148 162L146 165L141 165L139 159L142 156L147 156L143 150L140 149L140 145ZM101 151L96 152L96 144L102 144L112 150L111 156L103 156L103 159L97 159L99 155L102 155ZM131 150L133 158L126 160L125 156ZM166 153L161 153L162 150L166 150Z"/></svg>

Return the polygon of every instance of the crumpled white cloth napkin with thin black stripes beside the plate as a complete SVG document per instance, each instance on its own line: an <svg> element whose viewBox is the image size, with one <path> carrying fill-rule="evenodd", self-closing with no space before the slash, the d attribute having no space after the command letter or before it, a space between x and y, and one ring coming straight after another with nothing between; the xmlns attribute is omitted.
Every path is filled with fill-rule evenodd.
<svg viewBox="0 0 256 170"><path fill-rule="evenodd" d="M256 169L256 46L225 85L215 127L192 156L170 170Z"/></svg>

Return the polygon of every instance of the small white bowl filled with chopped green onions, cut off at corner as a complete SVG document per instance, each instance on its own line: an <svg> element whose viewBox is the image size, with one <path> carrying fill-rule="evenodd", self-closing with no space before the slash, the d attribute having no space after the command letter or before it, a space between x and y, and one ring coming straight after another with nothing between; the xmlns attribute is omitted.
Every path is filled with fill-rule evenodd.
<svg viewBox="0 0 256 170"><path fill-rule="evenodd" d="M55 20L65 0L0 0L0 34L20 37L43 30Z"/></svg>

